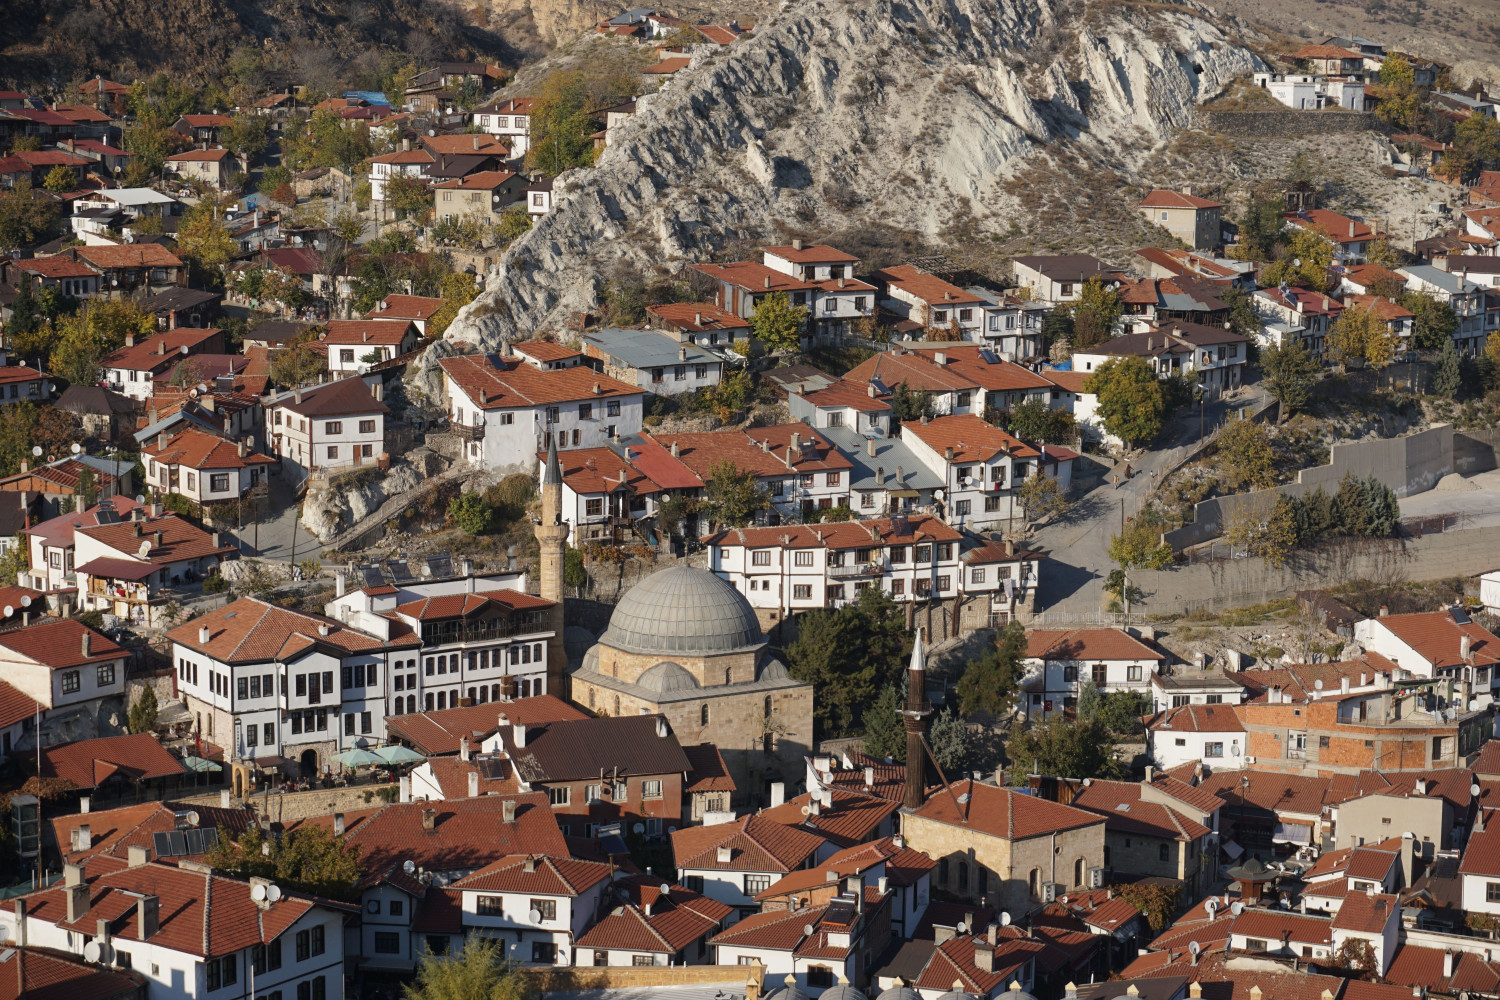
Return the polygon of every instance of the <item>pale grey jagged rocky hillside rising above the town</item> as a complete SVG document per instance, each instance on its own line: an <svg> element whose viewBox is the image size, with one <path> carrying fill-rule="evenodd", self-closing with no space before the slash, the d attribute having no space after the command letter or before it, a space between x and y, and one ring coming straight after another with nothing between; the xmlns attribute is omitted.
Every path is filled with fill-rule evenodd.
<svg viewBox="0 0 1500 1000"><path fill-rule="evenodd" d="M681 270L729 241L860 222L938 246L958 228L999 237L1026 219L1011 190L1026 163L1066 147L1128 171L1258 66L1186 4L786 4L674 76L596 166L558 178L558 210L510 247L429 367L458 342L560 327L621 265Z"/></svg>

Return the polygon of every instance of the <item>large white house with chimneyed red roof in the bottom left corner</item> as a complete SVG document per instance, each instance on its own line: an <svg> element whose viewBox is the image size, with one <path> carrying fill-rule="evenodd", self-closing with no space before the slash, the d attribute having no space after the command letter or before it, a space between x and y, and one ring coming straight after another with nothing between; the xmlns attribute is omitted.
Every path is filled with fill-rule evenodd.
<svg viewBox="0 0 1500 1000"><path fill-rule="evenodd" d="M62 882L0 913L0 936L90 961L110 955L144 978L147 1000L226 1000L252 981L267 999L342 1000L352 912L132 847L128 859L66 865Z"/></svg>

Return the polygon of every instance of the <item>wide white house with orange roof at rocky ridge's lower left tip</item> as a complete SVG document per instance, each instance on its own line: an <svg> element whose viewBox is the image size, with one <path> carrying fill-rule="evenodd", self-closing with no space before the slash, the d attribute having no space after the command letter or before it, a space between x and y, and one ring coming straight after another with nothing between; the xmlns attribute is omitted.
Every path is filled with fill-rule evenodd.
<svg viewBox="0 0 1500 1000"><path fill-rule="evenodd" d="M442 358L448 427L465 460L530 471L537 451L602 448L640 430L645 391L592 369L543 370L496 354Z"/></svg>

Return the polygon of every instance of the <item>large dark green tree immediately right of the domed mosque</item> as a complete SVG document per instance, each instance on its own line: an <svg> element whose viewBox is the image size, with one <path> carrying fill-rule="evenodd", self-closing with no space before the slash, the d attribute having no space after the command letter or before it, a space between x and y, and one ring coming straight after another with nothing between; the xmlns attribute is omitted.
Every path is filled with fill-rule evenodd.
<svg viewBox="0 0 1500 1000"><path fill-rule="evenodd" d="M860 732L867 706L882 690L898 687L910 651L906 615L879 588L860 591L837 610L804 615L788 658L794 678L816 685L814 735Z"/></svg>

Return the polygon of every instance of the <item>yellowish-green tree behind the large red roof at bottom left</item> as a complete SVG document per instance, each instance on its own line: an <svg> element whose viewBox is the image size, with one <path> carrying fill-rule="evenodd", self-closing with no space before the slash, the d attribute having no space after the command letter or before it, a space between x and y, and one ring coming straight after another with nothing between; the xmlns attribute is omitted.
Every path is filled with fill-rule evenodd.
<svg viewBox="0 0 1500 1000"><path fill-rule="evenodd" d="M219 846L208 852L208 864L242 879L274 879L297 892L330 900L360 898L360 849L334 838L326 826L303 826L279 840L267 838L258 826L238 840L220 831Z"/></svg>

